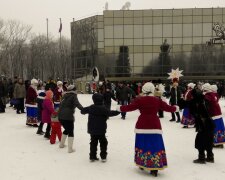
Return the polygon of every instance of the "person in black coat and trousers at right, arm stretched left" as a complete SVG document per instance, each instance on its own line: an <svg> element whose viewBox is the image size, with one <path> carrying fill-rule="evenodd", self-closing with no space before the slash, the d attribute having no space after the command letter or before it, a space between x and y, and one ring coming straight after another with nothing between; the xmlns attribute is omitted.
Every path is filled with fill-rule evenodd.
<svg viewBox="0 0 225 180"><path fill-rule="evenodd" d="M208 113L207 103L204 100L204 95L199 89L192 91L193 99L191 101L179 100L179 107L190 108L190 113L195 118L196 138L195 148L198 150L198 159L194 163L205 164L206 162L214 162L213 154L213 136L214 136L214 123ZM207 158L205 158L205 151Z"/></svg>

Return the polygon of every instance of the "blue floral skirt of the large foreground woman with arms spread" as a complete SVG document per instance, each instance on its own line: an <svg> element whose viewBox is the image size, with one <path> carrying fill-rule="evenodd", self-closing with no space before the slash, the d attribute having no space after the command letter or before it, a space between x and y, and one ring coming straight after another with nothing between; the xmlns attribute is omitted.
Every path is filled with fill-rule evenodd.
<svg viewBox="0 0 225 180"><path fill-rule="evenodd" d="M136 134L135 163L145 170L162 170L167 167L161 134Z"/></svg>

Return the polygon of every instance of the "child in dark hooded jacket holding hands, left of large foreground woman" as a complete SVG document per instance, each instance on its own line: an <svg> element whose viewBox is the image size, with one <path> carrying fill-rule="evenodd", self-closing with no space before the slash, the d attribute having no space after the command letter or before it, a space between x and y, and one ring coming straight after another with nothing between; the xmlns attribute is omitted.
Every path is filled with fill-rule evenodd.
<svg viewBox="0 0 225 180"><path fill-rule="evenodd" d="M110 111L103 105L104 97L102 94L96 93L92 96L94 104L81 110L82 114L88 115L88 133L91 136L90 142L90 161L98 160L97 146L100 143L100 157L102 162L106 161L108 141L105 137L107 129L107 119L109 116L120 114L118 111Z"/></svg>

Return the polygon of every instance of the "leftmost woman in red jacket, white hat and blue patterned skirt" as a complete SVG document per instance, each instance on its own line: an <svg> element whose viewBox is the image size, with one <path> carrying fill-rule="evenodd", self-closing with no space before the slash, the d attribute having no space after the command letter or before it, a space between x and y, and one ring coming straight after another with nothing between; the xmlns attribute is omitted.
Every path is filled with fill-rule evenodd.
<svg viewBox="0 0 225 180"><path fill-rule="evenodd" d="M26 95L26 108L27 108L26 125L34 127L38 127L37 86L38 81L36 79L32 79L31 85L29 86Z"/></svg>

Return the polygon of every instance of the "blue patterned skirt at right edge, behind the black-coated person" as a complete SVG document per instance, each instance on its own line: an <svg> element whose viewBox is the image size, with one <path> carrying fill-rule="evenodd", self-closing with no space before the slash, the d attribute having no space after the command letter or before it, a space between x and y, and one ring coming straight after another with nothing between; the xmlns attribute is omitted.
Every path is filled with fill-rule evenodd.
<svg viewBox="0 0 225 180"><path fill-rule="evenodd" d="M225 128L222 117L213 117L214 129L214 145L225 144Z"/></svg>

